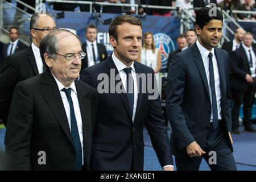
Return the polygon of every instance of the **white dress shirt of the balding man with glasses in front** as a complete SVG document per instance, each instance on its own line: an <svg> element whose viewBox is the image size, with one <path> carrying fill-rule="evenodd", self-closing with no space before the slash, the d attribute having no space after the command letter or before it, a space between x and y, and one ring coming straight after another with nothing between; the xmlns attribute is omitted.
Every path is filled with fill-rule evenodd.
<svg viewBox="0 0 256 182"><path fill-rule="evenodd" d="M57 80L57 78L53 74L52 74L52 76L55 78L55 81L56 81L56 83L58 85L58 88L60 90L60 96L61 96L64 108L65 108L65 112L67 114L68 125L69 125L70 131L71 131L71 118L70 118L69 102L68 102L68 98L67 98L65 92L61 91L61 90L63 88L65 88L65 89L71 88L71 98L72 98L73 107L74 107L74 111L75 111L77 128L79 130L79 138L80 138L81 146L82 146L82 149L83 149L84 148L84 143L83 143L84 138L82 137L82 116L81 116L81 111L80 111L79 100L78 100L78 97L77 97L75 82L73 81L72 84L69 87L65 87L65 86L63 86L63 84L61 84L61 82L59 80ZM82 165L84 165L84 150L82 150Z"/></svg>

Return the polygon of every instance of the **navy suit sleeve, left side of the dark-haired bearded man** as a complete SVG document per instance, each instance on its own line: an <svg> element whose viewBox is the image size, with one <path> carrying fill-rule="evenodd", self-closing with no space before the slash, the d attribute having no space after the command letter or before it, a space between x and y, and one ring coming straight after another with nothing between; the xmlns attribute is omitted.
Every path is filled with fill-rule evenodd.
<svg viewBox="0 0 256 182"><path fill-rule="evenodd" d="M166 109L172 132L175 135L180 150L195 141L188 130L181 108L183 104L185 77L185 64L180 56L175 55L171 61L167 76Z"/></svg>

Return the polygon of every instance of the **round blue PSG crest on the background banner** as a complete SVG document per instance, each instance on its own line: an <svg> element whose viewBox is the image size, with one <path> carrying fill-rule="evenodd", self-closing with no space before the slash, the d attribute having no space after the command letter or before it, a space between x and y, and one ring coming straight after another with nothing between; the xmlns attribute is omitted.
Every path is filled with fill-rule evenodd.
<svg viewBox="0 0 256 182"><path fill-rule="evenodd" d="M167 65L168 55L170 54L170 52L175 50L174 42L172 42L170 36L162 33L155 34L154 40L155 47L158 48L161 53L162 69L164 69Z"/></svg>

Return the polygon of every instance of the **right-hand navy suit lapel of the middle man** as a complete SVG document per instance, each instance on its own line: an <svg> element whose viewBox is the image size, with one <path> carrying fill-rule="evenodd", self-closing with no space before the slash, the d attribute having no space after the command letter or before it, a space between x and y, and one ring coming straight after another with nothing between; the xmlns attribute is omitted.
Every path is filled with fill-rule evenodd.
<svg viewBox="0 0 256 182"><path fill-rule="evenodd" d="M137 101L137 107L136 107L136 112L135 112L135 117L134 117L134 122L137 119L138 113L139 113L139 109L141 108L141 104L142 104L142 98L143 98L143 94L142 94L142 82L139 80L138 76L140 73L142 73L141 67L139 67L139 64L134 61L134 68L135 68L135 72L138 73L137 76L137 86L138 86L138 101Z"/></svg>

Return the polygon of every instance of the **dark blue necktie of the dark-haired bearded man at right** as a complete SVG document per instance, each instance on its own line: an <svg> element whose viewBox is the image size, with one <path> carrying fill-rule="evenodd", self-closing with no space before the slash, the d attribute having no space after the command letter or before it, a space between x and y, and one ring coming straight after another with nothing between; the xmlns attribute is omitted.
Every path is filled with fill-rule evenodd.
<svg viewBox="0 0 256 182"><path fill-rule="evenodd" d="M213 129L216 130L218 127L218 109L217 109L217 98L215 92L215 80L214 71L212 64L212 52L209 53L209 73L210 73L210 90L212 91L212 111L213 111Z"/></svg>

